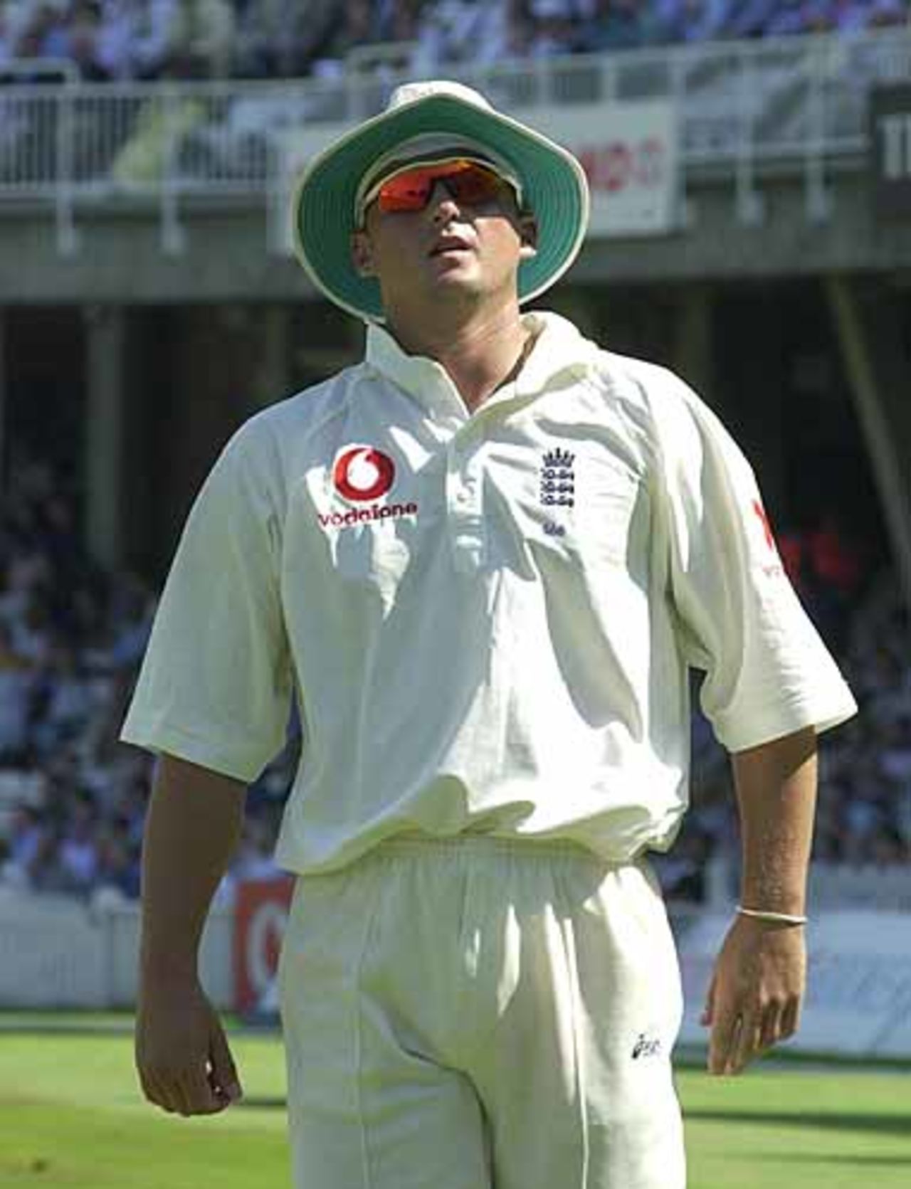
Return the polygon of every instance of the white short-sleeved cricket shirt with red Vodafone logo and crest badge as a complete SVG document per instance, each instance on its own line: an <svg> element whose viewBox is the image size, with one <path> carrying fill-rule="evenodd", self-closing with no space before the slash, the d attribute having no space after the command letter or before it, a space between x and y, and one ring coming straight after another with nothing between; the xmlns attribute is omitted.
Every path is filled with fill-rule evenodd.
<svg viewBox="0 0 911 1189"><path fill-rule="evenodd" d="M371 327L363 363L240 428L190 512L122 738L251 781L296 688L290 870L414 831L666 848L689 666L733 751L856 709L712 413L526 319L473 415Z"/></svg>

